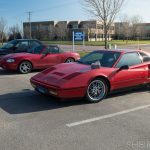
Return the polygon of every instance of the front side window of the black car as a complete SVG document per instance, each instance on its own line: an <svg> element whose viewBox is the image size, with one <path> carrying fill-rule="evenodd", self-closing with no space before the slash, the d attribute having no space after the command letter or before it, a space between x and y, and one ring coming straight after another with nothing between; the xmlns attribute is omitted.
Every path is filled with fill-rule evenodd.
<svg viewBox="0 0 150 150"><path fill-rule="evenodd" d="M29 48L29 46L28 46L28 41L20 41L20 42L16 45L16 51L18 51L18 52L27 51L28 48Z"/></svg>

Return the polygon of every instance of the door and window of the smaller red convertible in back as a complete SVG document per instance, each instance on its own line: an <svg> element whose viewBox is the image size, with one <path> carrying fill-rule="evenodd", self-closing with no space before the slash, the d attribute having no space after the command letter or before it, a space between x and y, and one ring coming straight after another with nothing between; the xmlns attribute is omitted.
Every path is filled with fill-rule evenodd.
<svg viewBox="0 0 150 150"><path fill-rule="evenodd" d="M57 46L48 46L41 55L40 63L43 68L47 68L62 62L59 48Z"/></svg>

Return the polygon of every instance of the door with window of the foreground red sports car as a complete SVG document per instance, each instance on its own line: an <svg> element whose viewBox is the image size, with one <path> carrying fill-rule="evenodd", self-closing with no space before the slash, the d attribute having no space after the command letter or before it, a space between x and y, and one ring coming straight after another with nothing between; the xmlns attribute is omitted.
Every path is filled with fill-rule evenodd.
<svg viewBox="0 0 150 150"><path fill-rule="evenodd" d="M148 71L137 52L123 54L116 68L128 65L129 69L118 71L112 78L113 89L136 86L146 82Z"/></svg>

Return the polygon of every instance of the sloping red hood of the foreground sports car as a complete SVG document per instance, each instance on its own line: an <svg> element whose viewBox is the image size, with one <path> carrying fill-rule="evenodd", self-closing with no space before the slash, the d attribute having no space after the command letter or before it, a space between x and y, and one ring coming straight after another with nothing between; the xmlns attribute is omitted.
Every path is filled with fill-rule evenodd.
<svg viewBox="0 0 150 150"><path fill-rule="evenodd" d="M57 83L62 79L62 81L67 80L67 76L79 75L83 72L90 71L91 67L89 65L82 65L78 63L63 63L51 67L49 69L44 70L43 72L35 75L33 78L34 80L46 83L46 84L53 84Z"/></svg>

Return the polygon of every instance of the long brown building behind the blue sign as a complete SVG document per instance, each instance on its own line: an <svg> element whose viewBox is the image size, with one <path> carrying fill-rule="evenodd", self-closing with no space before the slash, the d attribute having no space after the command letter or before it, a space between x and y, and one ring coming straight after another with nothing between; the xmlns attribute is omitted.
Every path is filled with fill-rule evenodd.
<svg viewBox="0 0 150 150"><path fill-rule="evenodd" d="M30 24L23 23L24 37L29 37ZM104 40L103 25L99 21L43 21L31 22L32 38L39 40L72 40L73 31L85 33L87 41ZM108 40L114 35L114 25L109 30Z"/></svg>

